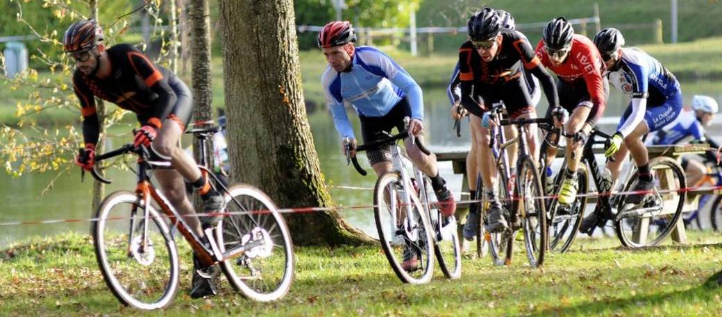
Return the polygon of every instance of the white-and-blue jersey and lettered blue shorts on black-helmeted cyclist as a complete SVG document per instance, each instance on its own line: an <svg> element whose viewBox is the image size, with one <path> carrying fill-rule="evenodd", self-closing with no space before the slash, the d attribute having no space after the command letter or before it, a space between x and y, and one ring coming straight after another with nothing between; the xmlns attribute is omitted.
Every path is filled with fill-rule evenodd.
<svg viewBox="0 0 722 317"><path fill-rule="evenodd" d="M643 120L649 131L656 131L674 121L682 110L682 92L674 75L637 48L622 48L620 63L608 74L609 83L630 95L632 102L617 131L627 136Z"/></svg>

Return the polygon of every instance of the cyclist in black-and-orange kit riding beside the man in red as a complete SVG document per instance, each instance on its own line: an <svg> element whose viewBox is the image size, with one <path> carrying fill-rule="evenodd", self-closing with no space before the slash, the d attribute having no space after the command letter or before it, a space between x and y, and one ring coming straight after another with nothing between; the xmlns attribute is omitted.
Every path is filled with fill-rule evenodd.
<svg viewBox="0 0 722 317"><path fill-rule="evenodd" d="M536 117L522 67L539 79L549 105L559 104L554 79L534 55L529 41L520 32L502 28L500 16L494 9L486 7L475 12L469 18L467 32L469 40L459 48L458 59L461 105L482 118L479 134L482 140L489 142L488 110L495 103L503 102L511 118ZM529 150L538 157L536 125L529 126L528 137ZM508 227L493 190L496 161L489 147L482 147L479 155L485 164L477 168L482 173L484 188L488 188L485 195L490 201L487 229L496 232Z"/></svg>

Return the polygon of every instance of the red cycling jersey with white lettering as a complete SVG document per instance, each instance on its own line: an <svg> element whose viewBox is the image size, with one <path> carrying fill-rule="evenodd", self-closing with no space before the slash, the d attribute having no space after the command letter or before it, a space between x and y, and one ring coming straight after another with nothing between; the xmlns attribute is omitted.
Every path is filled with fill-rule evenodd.
<svg viewBox="0 0 722 317"><path fill-rule="evenodd" d="M562 82L573 86L579 80L586 82L587 90L592 102L590 119L596 121L604 112L604 79L601 73L604 70L604 61L594 43L586 36L575 34L572 38L572 49L567 58L559 66L553 66L549 55L544 49L544 40L536 45L536 56L541 64L554 71Z"/></svg>

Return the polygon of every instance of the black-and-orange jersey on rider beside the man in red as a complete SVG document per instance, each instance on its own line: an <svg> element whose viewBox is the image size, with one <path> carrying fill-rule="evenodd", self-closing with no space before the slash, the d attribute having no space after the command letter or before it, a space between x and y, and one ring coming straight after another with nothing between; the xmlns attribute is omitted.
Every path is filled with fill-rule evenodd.
<svg viewBox="0 0 722 317"><path fill-rule="evenodd" d="M483 86L484 88L497 87L503 89L502 86L507 82L513 82L522 76L521 67L531 71L536 78L539 79L541 87L544 88L544 94L547 95L549 105L558 105L557 92L554 85L554 79L544 69L539 62L539 58L531 48L529 41L524 38L521 32L515 30L502 29L502 41L497 48L497 54L492 61L485 62L482 56L471 44L470 40L464 42L458 51L459 63L459 80L461 82L461 103L478 103L474 101L471 92L474 86ZM465 102L466 101L466 102ZM510 105L507 105L510 106ZM482 113L482 109L471 110L471 104L465 105L471 113L478 116Z"/></svg>

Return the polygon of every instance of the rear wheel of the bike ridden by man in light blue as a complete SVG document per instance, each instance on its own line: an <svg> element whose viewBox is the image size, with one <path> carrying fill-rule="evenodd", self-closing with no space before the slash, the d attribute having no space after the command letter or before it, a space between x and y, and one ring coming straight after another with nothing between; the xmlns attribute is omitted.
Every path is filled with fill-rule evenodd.
<svg viewBox="0 0 722 317"><path fill-rule="evenodd" d="M424 177L425 198L429 205L429 219L436 235L434 253L441 272L450 279L461 277L461 243L458 238L456 219L443 217L429 178ZM446 218L446 219L444 219Z"/></svg>

